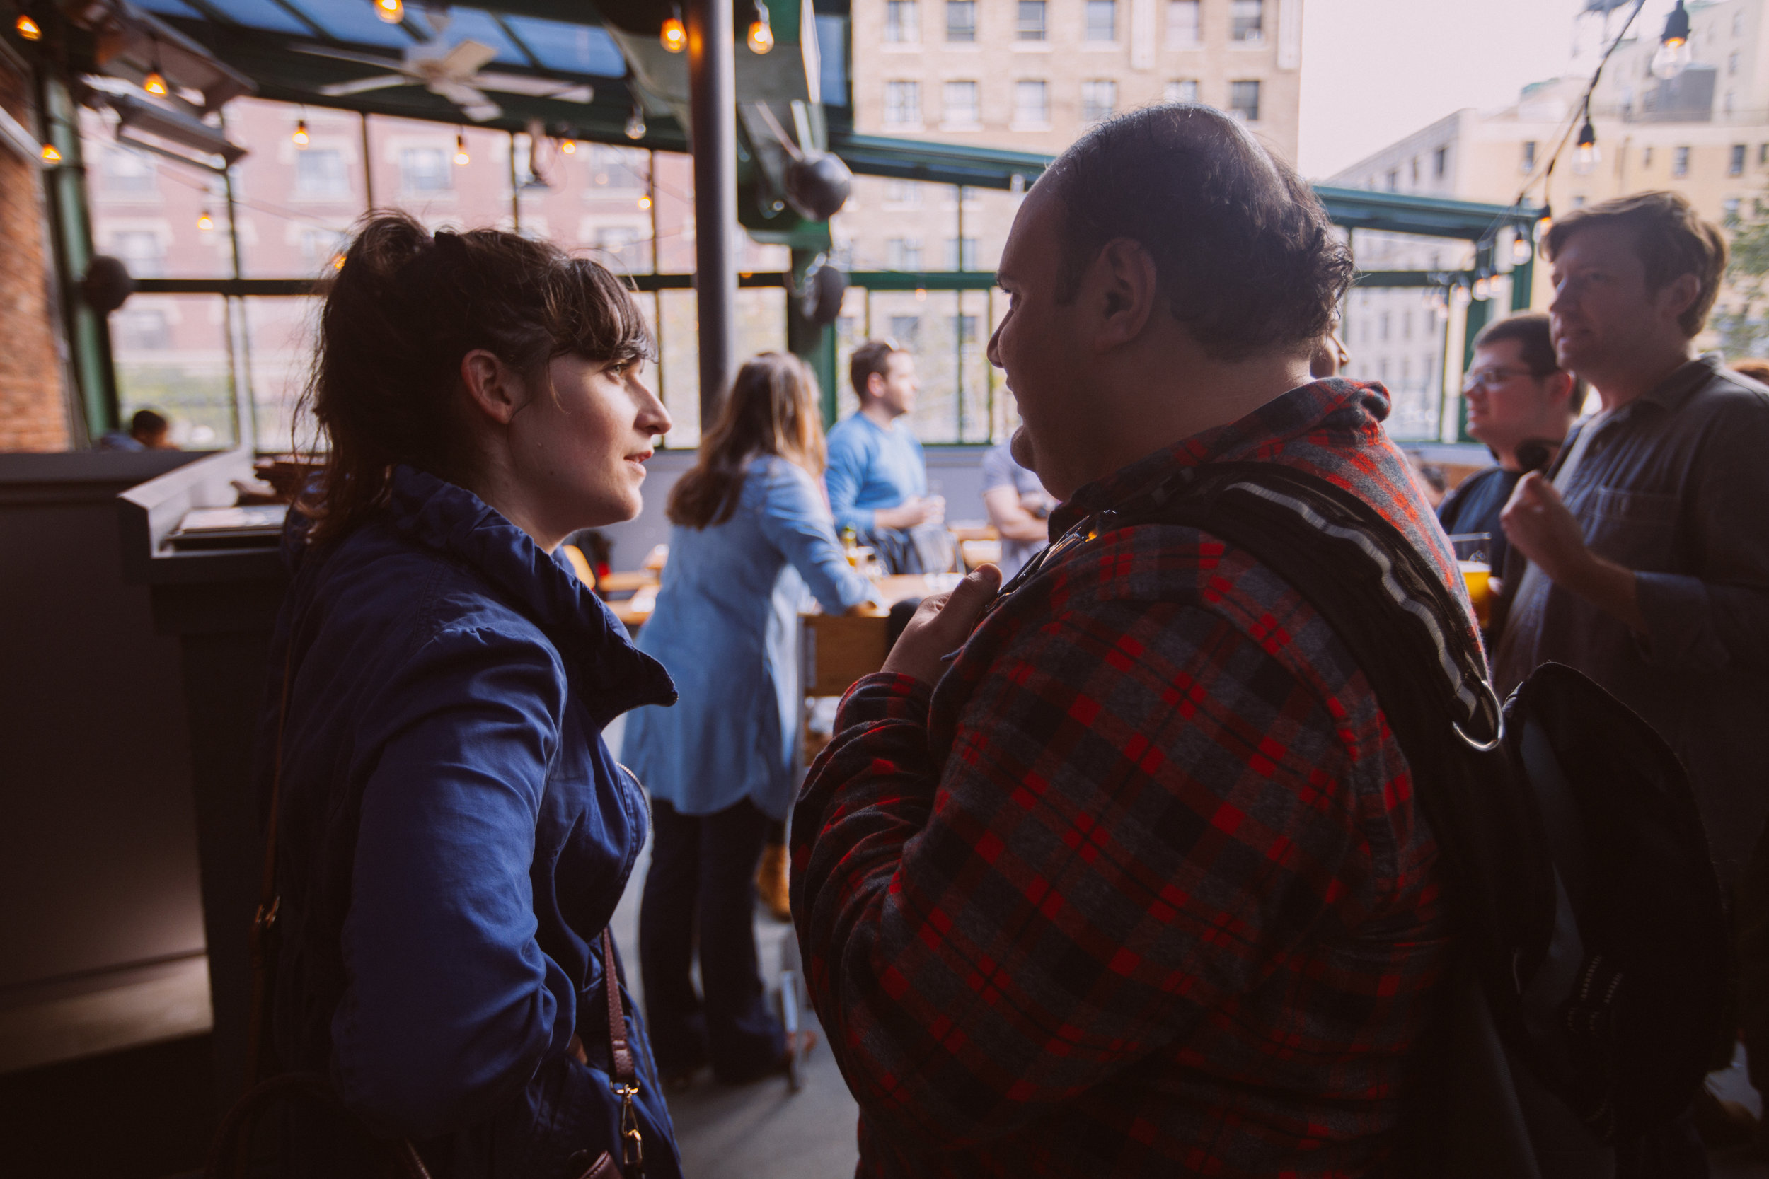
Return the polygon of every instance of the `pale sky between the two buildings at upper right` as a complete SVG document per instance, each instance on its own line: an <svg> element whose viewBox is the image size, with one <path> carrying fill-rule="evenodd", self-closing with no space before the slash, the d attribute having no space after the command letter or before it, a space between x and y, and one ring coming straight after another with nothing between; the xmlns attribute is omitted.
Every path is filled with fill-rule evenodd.
<svg viewBox="0 0 1769 1179"><path fill-rule="evenodd" d="M1569 72L1583 0L1302 0L1298 166L1323 179L1463 106L1507 106ZM1665 28L1647 0L1631 32ZM1612 18L1620 30L1627 11ZM1580 72L1599 21L1583 21Z"/></svg>

